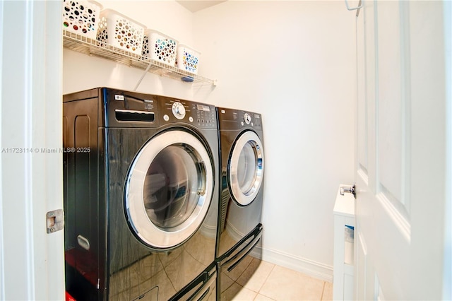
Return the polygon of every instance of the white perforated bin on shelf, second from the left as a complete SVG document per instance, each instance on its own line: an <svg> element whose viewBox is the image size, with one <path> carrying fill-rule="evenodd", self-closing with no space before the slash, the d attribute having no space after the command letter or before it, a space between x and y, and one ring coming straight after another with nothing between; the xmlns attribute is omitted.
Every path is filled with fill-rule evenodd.
<svg viewBox="0 0 452 301"><path fill-rule="evenodd" d="M100 12L97 40L134 54L141 54L144 30L145 25L117 11L105 9Z"/></svg>

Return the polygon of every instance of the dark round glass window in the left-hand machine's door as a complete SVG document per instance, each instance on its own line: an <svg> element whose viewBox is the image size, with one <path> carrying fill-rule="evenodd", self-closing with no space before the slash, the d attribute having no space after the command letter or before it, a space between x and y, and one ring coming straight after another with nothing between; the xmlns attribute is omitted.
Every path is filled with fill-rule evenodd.
<svg viewBox="0 0 452 301"><path fill-rule="evenodd" d="M160 228L174 228L194 212L206 188L200 156L182 144L167 146L151 163L143 186L149 219Z"/></svg>

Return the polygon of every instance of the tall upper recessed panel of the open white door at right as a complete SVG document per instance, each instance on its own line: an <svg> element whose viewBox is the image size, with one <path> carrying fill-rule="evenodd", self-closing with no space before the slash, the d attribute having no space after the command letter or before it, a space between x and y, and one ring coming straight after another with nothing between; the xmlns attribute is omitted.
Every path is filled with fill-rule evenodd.
<svg viewBox="0 0 452 301"><path fill-rule="evenodd" d="M410 199L410 47L408 4L385 1L377 8L376 131L379 193L409 218ZM407 31L408 30L408 31ZM408 41L408 42L407 42ZM408 90L407 90L408 88Z"/></svg>

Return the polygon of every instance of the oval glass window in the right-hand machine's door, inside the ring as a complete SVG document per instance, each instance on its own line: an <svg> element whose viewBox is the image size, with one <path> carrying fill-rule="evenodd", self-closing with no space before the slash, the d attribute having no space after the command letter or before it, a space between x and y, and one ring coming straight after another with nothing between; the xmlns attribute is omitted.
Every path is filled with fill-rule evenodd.
<svg viewBox="0 0 452 301"><path fill-rule="evenodd" d="M256 143L253 142L248 141L242 148L239 156L239 166L241 168L237 169L237 181L243 194L248 194L256 181L258 167L255 151Z"/></svg>

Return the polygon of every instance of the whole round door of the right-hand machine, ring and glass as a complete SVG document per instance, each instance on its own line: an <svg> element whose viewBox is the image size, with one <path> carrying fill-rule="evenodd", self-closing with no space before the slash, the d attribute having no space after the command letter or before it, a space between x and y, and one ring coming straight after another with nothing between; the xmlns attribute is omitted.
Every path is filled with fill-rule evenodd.
<svg viewBox="0 0 452 301"><path fill-rule="evenodd" d="M232 146L228 180L240 206L256 199L263 180L263 146L254 131L245 131Z"/></svg>

